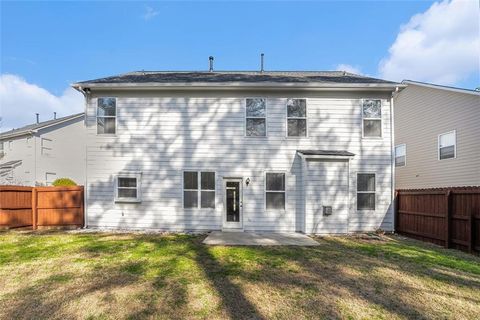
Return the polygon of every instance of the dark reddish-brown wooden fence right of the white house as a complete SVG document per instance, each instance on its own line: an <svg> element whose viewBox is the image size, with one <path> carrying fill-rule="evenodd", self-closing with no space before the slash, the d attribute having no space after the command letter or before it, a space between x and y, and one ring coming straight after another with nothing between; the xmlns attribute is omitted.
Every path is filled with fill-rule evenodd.
<svg viewBox="0 0 480 320"><path fill-rule="evenodd" d="M397 190L395 219L398 233L480 252L480 187Z"/></svg>

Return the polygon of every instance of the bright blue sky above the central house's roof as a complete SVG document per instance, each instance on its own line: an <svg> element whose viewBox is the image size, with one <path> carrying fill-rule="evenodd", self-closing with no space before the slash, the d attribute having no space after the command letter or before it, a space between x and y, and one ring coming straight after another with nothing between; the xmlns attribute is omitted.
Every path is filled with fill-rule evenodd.
<svg viewBox="0 0 480 320"><path fill-rule="evenodd" d="M478 63L473 71L468 66L452 65L450 71L470 69L460 75L447 74L446 70L445 77L438 69L455 58L440 60L436 65L432 61L425 70L425 63L405 67L405 59L416 58L406 57L402 51L424 50L408 47L408 32L407 50L402 50L405 44L401 42L397 46L400 48L394 47L389 53L402 25L415 14L432 11L432 4L2 1L0 71L61 97L77 80L142 69L205 70L210 55L215 56L215 68L219 70L256 70L259 55L264 52L267 70L335 70L347 65L341 67L392 80L413 78L466 88L479 86ZM441 21L442 14L453 10L448 1L443 4L443 9L438 6L439 13L433 12L431 19L425 16L424 20L430 19L433 25ZM472 25L462 20L457 29L467 23L470 33L478 30L478 22ZM427 36L430 32L435 37L435 32L429 31L432 27L422 23L414 21L410 30L424 28ZM428 46L428 41L424 45ZM458 60L465 58L460 54ZM3 106L4 123L10 121L6 108Z"/></svg>

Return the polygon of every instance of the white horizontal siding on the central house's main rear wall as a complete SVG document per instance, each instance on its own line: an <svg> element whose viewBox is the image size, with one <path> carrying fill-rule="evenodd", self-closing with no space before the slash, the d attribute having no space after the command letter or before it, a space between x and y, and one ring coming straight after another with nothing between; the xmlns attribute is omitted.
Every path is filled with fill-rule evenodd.
<svg viewBox="0 0 480 320"><path fill-rule="evenodd" d="M390 94L302 92L308 102L308 139L286 137L287 99L298 92L102 92L117 97L117 135L96 134L96 98L87 108L87 215L92 227L157 228L170 231L222 229L223 190L215 208L183 207L183 171L215 171L217 186L243 179L245 231L304 231L305 190L297 150L348 150L351 172L376 171L377 208L356 213L354 173L349 231L392 229ZM245 100L265 97L268 137L245 138ZM382 99L383 137L362 139L362 99ZM112 172L141 171L142 203L111 204ZM285 173L285 210L266 210L265 172ZM247 186L245 180L249 178ZM198 179L198 176L197 176ZM198 192L199 189L195 189ZM122 216L122 212L124 215Z"/></svg>

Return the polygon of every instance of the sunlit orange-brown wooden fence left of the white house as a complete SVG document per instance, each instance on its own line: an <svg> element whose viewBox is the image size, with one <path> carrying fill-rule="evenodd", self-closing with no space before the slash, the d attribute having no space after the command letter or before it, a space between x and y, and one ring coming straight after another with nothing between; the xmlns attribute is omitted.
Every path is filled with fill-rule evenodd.
<svg viewBox="0 0 480 320"><path fill-rule="evenodd" d="M83 186L0 186L0 227L82 227Z"/></svg>

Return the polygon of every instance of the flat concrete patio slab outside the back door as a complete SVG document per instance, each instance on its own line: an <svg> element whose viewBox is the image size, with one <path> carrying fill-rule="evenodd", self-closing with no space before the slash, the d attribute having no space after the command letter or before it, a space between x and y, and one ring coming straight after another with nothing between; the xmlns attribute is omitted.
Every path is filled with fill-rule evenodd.
<svg viewBox="0 0 480 320"><path fill-rule="evenodd" d="M210 233L204 244L217 246L318 246L318 242L301 233L220 232Z"/></svg>

